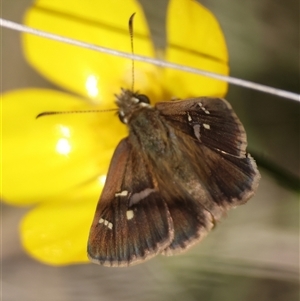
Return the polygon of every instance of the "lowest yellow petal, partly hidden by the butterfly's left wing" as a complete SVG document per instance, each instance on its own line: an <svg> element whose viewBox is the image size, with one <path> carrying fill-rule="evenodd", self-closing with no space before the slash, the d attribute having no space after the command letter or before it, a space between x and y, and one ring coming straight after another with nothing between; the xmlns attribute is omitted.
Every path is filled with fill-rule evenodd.
<svg viewBox="0 0 300 301"><path fill-rule="evenodd" d="M71 203L44 203L22 220L25 250L35 259L51 265L88 262L86 245L95 211L91 199Z"/></svg>

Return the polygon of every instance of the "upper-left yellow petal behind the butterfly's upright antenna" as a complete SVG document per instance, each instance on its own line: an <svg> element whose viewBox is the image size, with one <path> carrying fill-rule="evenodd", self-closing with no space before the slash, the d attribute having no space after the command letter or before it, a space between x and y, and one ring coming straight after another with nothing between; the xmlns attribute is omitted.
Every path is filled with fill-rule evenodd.
<svg viewBox="0 0 300 301"><path fill-rule="evenodd" d="M36 1L25 17L25 24L69 38L131 53L129 17L134 19L135 53L153 56L154 50L142 9L134 0ZM24 35L25 56L54 83L109 107L120 87L132 84L131 60ZM135 88L160 98L161 88L156 66L135 64ZM151 88L151 89L150 89Z"/></svg>

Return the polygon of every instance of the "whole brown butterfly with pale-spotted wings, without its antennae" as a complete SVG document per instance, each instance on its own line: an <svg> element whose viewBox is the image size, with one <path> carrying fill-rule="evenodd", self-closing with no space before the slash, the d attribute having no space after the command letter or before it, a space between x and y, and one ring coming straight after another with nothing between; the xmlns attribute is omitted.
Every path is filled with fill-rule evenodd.
<svg viewBox="0 0 300 301"><path fill-rule="evenodd" d="M116 104L129 135L114 153L96 209L88 243L93 262L128 266L180 253L254 194L259 172L227 101L152 107L146 96L122 90Z"/></svg>

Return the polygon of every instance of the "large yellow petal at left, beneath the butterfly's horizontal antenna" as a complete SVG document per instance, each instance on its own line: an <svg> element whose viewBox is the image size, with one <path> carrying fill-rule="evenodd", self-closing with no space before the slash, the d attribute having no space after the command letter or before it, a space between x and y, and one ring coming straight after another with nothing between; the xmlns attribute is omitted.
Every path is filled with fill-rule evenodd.
<svg viewBox="0 0 300 301"><path fill-rule="evenodd" d="M42 89L2 96L2 196L11 204L98 198L109 160L126 127L115 112L36 116L95 109L66 93Z"/></svg>

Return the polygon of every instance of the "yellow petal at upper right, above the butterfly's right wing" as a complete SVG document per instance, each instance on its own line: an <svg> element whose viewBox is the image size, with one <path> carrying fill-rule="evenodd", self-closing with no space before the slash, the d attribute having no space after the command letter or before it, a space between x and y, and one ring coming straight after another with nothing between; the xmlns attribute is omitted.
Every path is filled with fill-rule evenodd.
<svg viewBox="0 0 300 301"><path fill-rule="evenodd" d="M228 74L223 33L213 14L197 1L171 0L167 15L166 60L220 74ZM172 97L224 96L227 83L176 70L165 70Z"/></svg>

